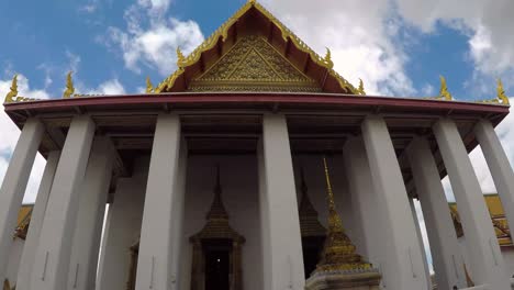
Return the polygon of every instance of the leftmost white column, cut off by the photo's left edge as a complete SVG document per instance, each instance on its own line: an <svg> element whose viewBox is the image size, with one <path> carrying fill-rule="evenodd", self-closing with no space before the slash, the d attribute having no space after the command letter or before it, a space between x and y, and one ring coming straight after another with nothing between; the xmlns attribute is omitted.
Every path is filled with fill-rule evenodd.
<svg viewBox="0 0 514 290"><path fill-rule="evenodd" d="M29 119L25 122L0 188L0 281L5 279L18 211L25 194L43 131L44 126L40 120Z"/></svg>

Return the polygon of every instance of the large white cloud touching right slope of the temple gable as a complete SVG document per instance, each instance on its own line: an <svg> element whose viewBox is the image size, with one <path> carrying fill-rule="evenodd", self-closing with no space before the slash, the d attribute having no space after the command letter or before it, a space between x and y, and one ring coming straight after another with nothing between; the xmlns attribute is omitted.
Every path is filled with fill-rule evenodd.
<svg viewBox="0 0 514 290"><path fill-rule="evenodd" d="M401 22L387 0L262 1L316 52L332 49L335 69L353 83L362 78L369 94L414 92L405 75L406 55L398 36Z"/></svg>

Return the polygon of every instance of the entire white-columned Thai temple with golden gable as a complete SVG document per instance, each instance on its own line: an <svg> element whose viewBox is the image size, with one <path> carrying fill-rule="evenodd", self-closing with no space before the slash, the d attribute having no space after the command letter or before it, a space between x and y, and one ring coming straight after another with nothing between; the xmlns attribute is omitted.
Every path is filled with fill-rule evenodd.
<svg viewBox="0 0 514 290"><path fill-rule="evenodd" d="M4 289L511 289L501 81L483 102L452 100L444 78L431 98L368 96L255 0L169 57L177 70L139 94L78 94L68 74L62 99L36 100L13 78ZM468 156L478 145L494 201ZM37 153L46 167L23 214Z"/></svg>

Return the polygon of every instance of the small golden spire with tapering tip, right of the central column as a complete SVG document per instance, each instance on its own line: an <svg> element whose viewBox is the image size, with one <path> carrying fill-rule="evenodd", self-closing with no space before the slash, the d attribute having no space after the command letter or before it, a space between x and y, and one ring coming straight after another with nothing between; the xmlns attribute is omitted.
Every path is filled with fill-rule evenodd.
<svg viewBox="0 0 514 290"><path fill-rule="evenodd" d="M317 264L315 272L371 270L371 264L362 261L362 258L356 253L356 247L345 234L343 223L335 208L334 192L325 157L323 157L323 166L325 168L328 199L328 231L322 260Z"/></svg>

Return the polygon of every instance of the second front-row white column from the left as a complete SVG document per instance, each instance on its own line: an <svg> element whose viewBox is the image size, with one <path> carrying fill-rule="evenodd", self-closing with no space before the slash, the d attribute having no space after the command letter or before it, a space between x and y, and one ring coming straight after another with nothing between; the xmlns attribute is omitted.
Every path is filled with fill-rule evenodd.
<svg viewBox="0 0 514 290"><path fill-rule="evenodd" d="M87 115L74 118L60 154L43 220L32 270L32 289L66 289L80 197L79 188L86 172L93 134L94 123L91 118Z"/></svg>

